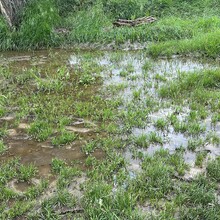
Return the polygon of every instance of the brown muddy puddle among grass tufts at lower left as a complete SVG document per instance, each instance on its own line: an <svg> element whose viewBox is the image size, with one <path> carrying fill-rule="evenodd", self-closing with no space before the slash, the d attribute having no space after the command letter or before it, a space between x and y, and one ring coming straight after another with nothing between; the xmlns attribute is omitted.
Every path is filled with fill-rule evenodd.
<svg viewBox="0 0 220 220"><path fill-rule="evenodd" d="M9 117L0 121L4 121L4 119L8 120ZM81 123L79 124L81 125ZM33 140L26 133L27 128L26 123L20 123L16 129L8 129L8 137L5 139L8 150L6 154L0 157L1 160L20 157L21 162L24 164L34 163L39 169L40 176L46 176L50 173L50 164L53 158L59 158L67 162L78 162L79 167L84 169L87 156L81 149L87 141L93 138L92 129L68 126L67 130L81 134L83 138L66 146L54 147L50 141L38 142ZM97 150L92 156L101 159L104 157L104 153Z"/></svg>

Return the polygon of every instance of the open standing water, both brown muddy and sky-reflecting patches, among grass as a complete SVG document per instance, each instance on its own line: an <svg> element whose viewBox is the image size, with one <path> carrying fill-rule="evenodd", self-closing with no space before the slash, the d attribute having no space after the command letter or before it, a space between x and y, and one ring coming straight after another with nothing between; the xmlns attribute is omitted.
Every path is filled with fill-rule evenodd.
<svg viewBox="0 0 220 220"><path fill-rule="evenodd" d="M91 55L91 54L90 54ZM57 57L55 62L52 63L52 58ZM46 66L46 65L70 65L72 67L80 66L81 62L84 62L84 53L75 53L71 51L55 50L55 51L37 51L28 53L4 53L1 56L0 65L11 65L14 68L28 68L30 66ZM144 101L146 94L153 99L160 102L161 100L157 96L157 88L163 85L163 80L174 79L178 76L179 72L183 71L195 71L206 68L216 68L217 65L206 62L198 61L194 59L174 58L174 59L158 59L151 60L146 57L144 53L140 52L102 52L100 54L92 54L90 58L97 64L103 67L102 78L103 88L101 91L105 91L109 86L117 86L120 84L126 84L126 88L119 91L117 97L122 98L123 106L121 110L126 109L126 104L131 102L133 98L133 91L140 90L140 99ZM150 63L150 68L147 71L143 69L146 62ZM129 77L123 77L122 71L129 71ZM115 98L115 97L112 97ZM169 108L162 107L162 109L153 111L148 115L149 123L144 128L132 128L132 135L139 136L141 134L148 134L149 132L158 132L165 138L163 146L151 144L147 149L139 149L143 154L153 155L156 150L160 148L168 149L171 153L174 153L177 148L187 147L188 136L175 133L172 128L169 128L166 133L158 131L153 122L159 118L166 118L174 111L175 106ZM179 117L185 118L188 110L182 111ZM13 116L6 116L1 118L0 123L10 122L13 120ZM66 129L72 132L79 133L82 138L77 140L68 146L62 146L61 148L53 147L50 142L37 142L34 141L25 132L25 123L20 124L20 127L10 127L8 130L9 136L5 142L9 147L7 153L0 157L0 160L6 160L14 156L21 157L23 163L35 163L39 167L41 175L47 175L50 172L50 164L52 158L60 158L67 161L79 161L84 164L86 155L82 152L81 148L85 144L85 141L93 139L93 130L95 129L91 124L92 129L88 129L83 126L84 119L80 119L73 124L73 126ZM0 125L2 125L0 124ZM204 122L207 131L212 130L210 120ZM27 125L28 126L28 125ZM217 124L214 130L217 134L220 133L220 124ZM202 134L204 135L204 134ZM206 150L211 155L219 155L219 148L213 145L206 146ZM97 150L93 153L98 159L103 158L105 155L102 151ZM130 162L130 170L137 171L140 169L140 161L133 159L132 153L129 150L129 146L124 153L125 158ZM196 153L185 151L184 159L187 163L193 165L195 162ZM83 165L82 165L83 167Z"/></svg>

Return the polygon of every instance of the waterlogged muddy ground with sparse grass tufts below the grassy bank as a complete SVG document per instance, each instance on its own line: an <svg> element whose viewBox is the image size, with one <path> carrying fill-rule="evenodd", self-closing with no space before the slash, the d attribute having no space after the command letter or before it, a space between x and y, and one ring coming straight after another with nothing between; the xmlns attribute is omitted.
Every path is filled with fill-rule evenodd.
<svg viewBox="0 0 220 220"><path fill-rule="evenodd" d="M220 67L144 52L5 53L2 219L219 219Z"/></svg>

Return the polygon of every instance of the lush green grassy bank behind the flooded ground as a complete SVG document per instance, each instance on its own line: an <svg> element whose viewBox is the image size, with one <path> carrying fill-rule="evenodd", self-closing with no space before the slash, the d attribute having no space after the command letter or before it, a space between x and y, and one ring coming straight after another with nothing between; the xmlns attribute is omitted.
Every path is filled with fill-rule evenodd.
<svg viewBox="0 0 220 220"><path fill-rule="evenodd" d="M21 12L21 23L9 30L0 20L0 49L71 47L148 43L152 56L198 53L216 57L219 51L218 1L32 1ZM135 28L114 28L117 18L152 15L157 22ZM59 32L64 28L64 32Z"/></svg>

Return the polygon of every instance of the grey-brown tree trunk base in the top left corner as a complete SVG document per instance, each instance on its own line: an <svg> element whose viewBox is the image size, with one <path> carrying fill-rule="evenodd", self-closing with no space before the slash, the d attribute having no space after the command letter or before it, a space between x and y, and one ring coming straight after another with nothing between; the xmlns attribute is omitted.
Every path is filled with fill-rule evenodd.
<svg viewBox="0 0 220 220"><path fill-rule="evenodd" d="M27 0L0 0L0 12L10 26L16 23L17 15Z"/></svg>

